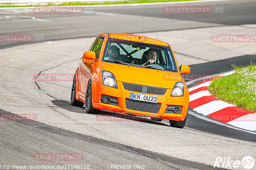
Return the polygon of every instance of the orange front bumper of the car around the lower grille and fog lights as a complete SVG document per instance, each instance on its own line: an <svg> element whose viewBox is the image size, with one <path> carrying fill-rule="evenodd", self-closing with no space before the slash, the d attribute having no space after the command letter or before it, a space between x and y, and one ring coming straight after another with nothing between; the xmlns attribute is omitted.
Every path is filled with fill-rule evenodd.
<svg viewBox="0 0 256 170"><path fill-rule="evenodd" d="M121 112L127 114L148 116L148 117L158 117L162 119L178 120L182 121L185 119L188 111L188 101L189 96L171 97L172 89L167 89L164 95L152 95L157 96L157 103L160 103L160 109L157 113L149 113L143 111L136 111L127 109L125 105L125 99L130 99L131 93L145 94L139 92L133 92L125 90L123 83L116 81L117 89L111 88L103 85L102 83L92 81L92 106L100 110L109 110L114 112ZM113 96L118 99L118 106L102 103L100 100L101 95ZM147 94L151 95L151 94ZM166 113L166 108L168 105L181 106L182 110L180 114Z"/></svg>

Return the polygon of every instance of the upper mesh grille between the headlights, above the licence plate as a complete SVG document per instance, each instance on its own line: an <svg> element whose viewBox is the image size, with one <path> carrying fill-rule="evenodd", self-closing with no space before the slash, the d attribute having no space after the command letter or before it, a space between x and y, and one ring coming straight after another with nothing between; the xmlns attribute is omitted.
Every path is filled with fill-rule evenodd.
<svg viewBox="0 0 256 170"><path fill-rule="evenodd" d="M139 84L125 83L125 82L123 82L123 86L125 90L152 94L152 95L164 95L167 90L160 87L144 86Z"/></svg>

